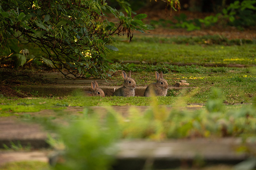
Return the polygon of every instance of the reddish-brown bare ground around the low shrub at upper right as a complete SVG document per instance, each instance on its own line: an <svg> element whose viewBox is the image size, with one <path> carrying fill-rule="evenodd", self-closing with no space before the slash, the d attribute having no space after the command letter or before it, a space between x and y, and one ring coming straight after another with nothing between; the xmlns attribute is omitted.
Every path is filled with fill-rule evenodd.
<svg viewBox="0 0 256 170"><path fill-rule="evenodd" d="M202 12L190 12L190 11L179 11L179 12L172 12L172 16L170 16L170 11L163 10L155 10L155 9L144 9L137 11L137 14L147 14L147 18L143 21L145 23L150 24L150 20L164 19L170 20L172 22L177 22L174 16L179 16L180 14L185 14L187 16L187 20L193 20L195 18L204 18L206 16L215 15L214 13L202 13ZM221 21L222 22L222 21ZM154 30L149 30L150 33L146 33L147 36L206 36L206 35L220 35L226 37L227 39L249 39L253 40L256 39L256 32L255 26L251 26L248 28L243 28L243 30L239 30L235 26L217 24L210 27L202 28L201 30L194 30L194 31L187 31L186 29L171 29L168 27L158 26ZM140 34L139 32L135 31L134 34Z"/></svg>

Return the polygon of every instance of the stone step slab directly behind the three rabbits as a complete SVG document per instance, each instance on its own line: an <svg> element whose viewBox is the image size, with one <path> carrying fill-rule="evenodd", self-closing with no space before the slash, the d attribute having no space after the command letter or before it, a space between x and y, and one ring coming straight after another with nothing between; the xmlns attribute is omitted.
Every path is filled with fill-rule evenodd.
<svg viewBox="0 0 256 170"><path fill-rule="evenodd" d="M51 72L51 73L41 73L43 75L43 79L47 80L48 83L43 85L20 85L19 88L21 91L26 91L28 93L38 91L39 96L66 96L66 95L76 95L78 91L92 91L90 83L91 81L97 81L99 83L100 88L104 91L105 96L111 96L114 93L114 89L118 89L121 86L109 86L111 84L115 84L116 81L108 80L106 82L103 79L75 79L70 80L66 79L59 72ZM135 88L135 96L143 96L146 86L137 86ZM195 88L195 87L175 87L169 86L170 89L181 90L184 88Z"/></svg>

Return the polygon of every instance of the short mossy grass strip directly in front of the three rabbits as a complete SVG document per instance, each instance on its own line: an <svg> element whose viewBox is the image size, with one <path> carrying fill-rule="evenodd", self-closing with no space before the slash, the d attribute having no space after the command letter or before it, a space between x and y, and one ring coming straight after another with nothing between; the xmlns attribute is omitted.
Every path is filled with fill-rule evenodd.
<svg viewBox="0 0 256 170"><path fill-rule="evenodd" d="M175 97L159 97L159 102L170 105L175 100ZM150 105L150 98L146 97L82 97L82 96L67 96L62 99L58 97L39 99L22 99L8 100L0 99L0 117L17 116L16 113L39 112L43 109L52 109L54 111L65 110L67 107L86 107L86 106L141 106ZM44 103L44 104L42 104Z"/></svg>

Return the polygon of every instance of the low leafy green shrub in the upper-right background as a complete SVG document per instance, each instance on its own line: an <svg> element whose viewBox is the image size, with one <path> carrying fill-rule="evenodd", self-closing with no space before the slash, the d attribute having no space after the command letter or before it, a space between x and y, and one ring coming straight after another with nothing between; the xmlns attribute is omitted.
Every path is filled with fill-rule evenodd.
<svg viewBox="0 0 256 170"><path fill-rule="evenodd" d="M167 26L171 25L171 28L186 28L188 31L199 30L202 25L212 26L218 22L226 22L225 24L234 25L237 27L254 26L256 25L256 0L244 0L241 3L235 1L231 3L227 8L222 10L222 13L216 15L210 15L204 17L204 19L187 20L185 14L180 14L179 17L175 16L176 23L168 20L151 21L152 25ZM222 23L223 24L223 23Z"/></svg>

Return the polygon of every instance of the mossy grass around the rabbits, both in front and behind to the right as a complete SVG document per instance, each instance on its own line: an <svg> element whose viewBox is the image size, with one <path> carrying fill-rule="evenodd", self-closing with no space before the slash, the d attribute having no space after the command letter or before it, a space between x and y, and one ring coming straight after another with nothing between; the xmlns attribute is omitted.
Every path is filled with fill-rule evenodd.
<svg viewBox="0 0 256 170"><path fill-rule="evenodd" d="M136 65L134 65L136 67ZM131 67L130 67L131 68ZM176 70L176 71L175 71ZM137 86L146 86L155 82L154 72L132 72ZM226 68L226 67L202 67L202 66L176 66L172 71L165 73L164 78L169 86L186 80L188 87L199 87L198 91L191 96L187 103L205 103L212 88L220 89L224 99L229 104L253 102L256 94L256 75L253 68ZM123 78L119 74L112 77L114 81L109 85L122 85ZM185 90L186 93L191 89ZM182 94L183 93L183 94ZM37 94L36 94L37 95ZM178 96L184 95L180 90L169 90L166 97L158 97L160 104L172 105ZM43 109L55 111L66 109L69 106L131 106L150 105L150 99L146 97L37 97L38 99L6 98L0 97L0 116L12 116L22 112L38 112Z"/></svg>

